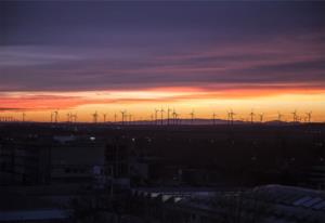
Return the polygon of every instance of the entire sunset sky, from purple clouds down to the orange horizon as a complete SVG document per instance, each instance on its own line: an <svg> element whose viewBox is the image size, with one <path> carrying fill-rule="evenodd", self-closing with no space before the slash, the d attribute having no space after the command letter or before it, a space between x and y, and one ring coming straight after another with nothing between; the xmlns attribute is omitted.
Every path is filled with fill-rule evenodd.
<svg viewBox="0 0 325 223"><path fill-rule="evenodd" d="M0 116L325 121L325 2L0 2ZM120 119L120 117L119 117Z"/></svg>

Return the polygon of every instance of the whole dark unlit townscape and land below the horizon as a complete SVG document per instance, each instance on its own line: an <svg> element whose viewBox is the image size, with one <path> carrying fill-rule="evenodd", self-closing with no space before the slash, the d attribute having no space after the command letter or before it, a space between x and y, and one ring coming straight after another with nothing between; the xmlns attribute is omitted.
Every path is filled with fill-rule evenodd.
<svg viewBox="0 0 325 223"><path fill-rule="evenodd" d="M325 124L0 123L0 222L323 222Z"/></svg>

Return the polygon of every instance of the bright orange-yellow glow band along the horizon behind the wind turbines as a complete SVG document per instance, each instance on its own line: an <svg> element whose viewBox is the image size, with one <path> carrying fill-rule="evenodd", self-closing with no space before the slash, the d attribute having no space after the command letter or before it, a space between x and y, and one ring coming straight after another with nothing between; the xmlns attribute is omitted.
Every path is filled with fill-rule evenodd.
<svg viewBox="0 0 325 223"><path fill-rule="evenodd" d="M276 120L277 112L289 121L297 109L301 117L313 110L313 121L325 121L325 90L323 89L200 89L200 88L155 88L138 91L83 91L83 92L10 92L0 94L0 116L21 119L26 113L32 121L49 121L50 112L58 110L61 121L67 113L77 113L78 121L91 121L95 110L107 113L107 120L114 114L120 119L120 110L127 109L136 120L150 120L155 108L169 106L190 118L195 109L196 118L226 119L226 110L234 109L237 120L246 120L251 109L264 113L264 120ZM166 115L166 114L165 114Z"/></svg>

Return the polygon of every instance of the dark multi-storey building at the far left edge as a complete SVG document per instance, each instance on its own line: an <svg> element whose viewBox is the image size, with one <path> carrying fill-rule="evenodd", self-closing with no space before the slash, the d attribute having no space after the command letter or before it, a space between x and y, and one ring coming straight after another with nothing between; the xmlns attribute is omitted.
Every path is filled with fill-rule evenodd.
<svg viewBox="0 0 325 223"><path fill-rule="evenodd" d="M51 145L32 139L0 143L0 185L50 182Z"/></svg>

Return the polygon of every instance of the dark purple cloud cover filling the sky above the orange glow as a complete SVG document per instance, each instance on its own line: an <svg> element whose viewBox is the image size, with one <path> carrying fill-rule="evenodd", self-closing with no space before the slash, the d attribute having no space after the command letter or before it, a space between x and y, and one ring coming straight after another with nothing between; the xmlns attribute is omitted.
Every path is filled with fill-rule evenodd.
<svg viewBox="0 0 325 223"><path fill-rule="evenodd" d="M325 83L323 2L0 5L2 92Z"/></svg>

